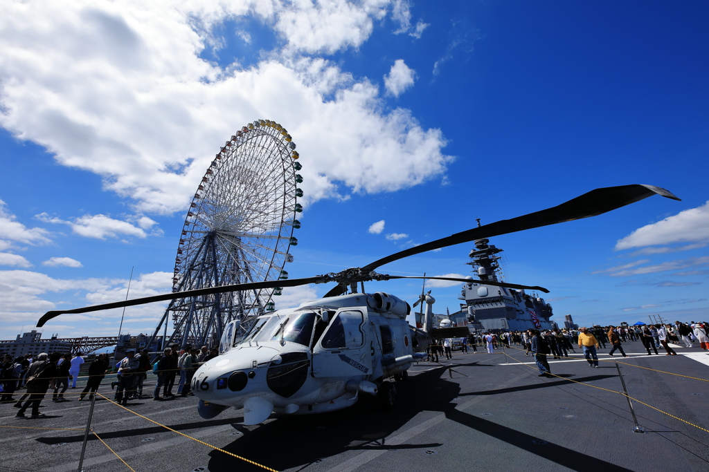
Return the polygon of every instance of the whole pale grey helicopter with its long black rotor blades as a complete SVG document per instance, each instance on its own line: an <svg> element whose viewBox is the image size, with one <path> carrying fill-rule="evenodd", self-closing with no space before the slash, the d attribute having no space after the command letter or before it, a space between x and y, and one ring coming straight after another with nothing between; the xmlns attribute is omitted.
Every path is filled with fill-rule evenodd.
<svg viewBox="0 0 709 472"><path fill-rule="evenodd" d="M367 294L364 282L425 279L470 284L471 279L386 275L374 272L376 268L437 248L597 216L656 194L680 200L668 190L653 185L598 188L556 207L477 226L388 255L364 267L316 277L208 287L48 311L37 326L62 313L86 313L204 294L336 282L321 299L257 316L240 337L237 335L240 321L228 323L220 339L220 355L202 364L191 381L192 391L199 398L199 415L204 419L215 418L233 406L244 409L245 425L257 425L272 413L304 415L347 408L354 405L361 394L376 396L384 410L391 410L396 405L396 386L391 379L408 379L408 369L425 358L425 347L431 339L467 336L468 328L434 328L430 312L434 300L430 294L422 294L415 303L426 302L423 326L410 326L406 316L411 313L411 306L406 301L386 292ZM486 281L485 284L549 292L544 287L508 282Z"/></svg>

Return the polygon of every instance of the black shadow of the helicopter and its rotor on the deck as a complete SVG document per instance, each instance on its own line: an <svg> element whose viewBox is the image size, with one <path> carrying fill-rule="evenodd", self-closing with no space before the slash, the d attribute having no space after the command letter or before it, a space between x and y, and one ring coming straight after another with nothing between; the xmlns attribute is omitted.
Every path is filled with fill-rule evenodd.
<svg viewBox="0 0 709 472"><path fill-rule="evenodd" d="M456 364L450 367L482 366L472 363ZM447 381L445 378L447 372L448 366L443 365L440 368L416 374L411 377L410 381L396 382L398 404L394 411L382 411L374 398L362 396L356 405L332 413L282 416L264 425L235 426L244 434L223 449L280 471L291 468L297 470L307 468L324 458L337 456L347 451L430 449L443 444L441 442L413 442L412 444L412 441L409 441L409 444L388 445L386 437L406 425L419 413L437 411L445 413L448 419L469 427L471 430L488 434L514 448L525 449L550 461L574 468L574 470L578 470L579 464L588 464L588 470L593 471L626 470L551 442L549 442L551 447L546 447L546 449L530 447L530 444L535 445L532 440L539 438L456 410L458 403L454 400L471 393L461 394L459 384ZM596 377L604 378L604 376L594 376L594 379ZM562 384L566 383L566 381L562 381ZM554 384L555 382L549 382L542 384L542 387L554 386ZM537 385L531 387L535 388ZM518 390L520 388L525 387L517 387ZM503 390L507 389L481 391L475 394L503 393ZM510 391L515 391L515 389L510 389ZM209 455L211 460L208 468L211 472L231 472L235 467L238 467L240 471L263 470L240 459L221 454L219 451L211 451Z"/></svg>

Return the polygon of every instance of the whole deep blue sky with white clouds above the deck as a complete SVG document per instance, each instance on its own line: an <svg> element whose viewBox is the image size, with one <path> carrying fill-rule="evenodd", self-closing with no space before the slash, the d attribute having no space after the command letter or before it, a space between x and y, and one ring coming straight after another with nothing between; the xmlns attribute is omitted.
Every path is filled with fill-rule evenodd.
<svg viewBox="0 0 709 472"><path fill-rule="evenodd" d="M705 2L11 2L0 18L0 338L49 309L170 289L219 146L275 120L306 209L291 277L647 183L600 217L498 236L506 280L577 323L709 318ZM369 231L384 221L379 233ZM389 238L387 238L389 235ZM391 236L396 235L396 236ZM402 236L404 235L404 236ZM393 275L469 275L471 244ZM278 306L328 287L286 289ZM415 301L418 282L379 282ZM432 287L456 311L459 285ZM126 310L148 332L160 305ZM44 333L115 335L120 311Z"/></svg>

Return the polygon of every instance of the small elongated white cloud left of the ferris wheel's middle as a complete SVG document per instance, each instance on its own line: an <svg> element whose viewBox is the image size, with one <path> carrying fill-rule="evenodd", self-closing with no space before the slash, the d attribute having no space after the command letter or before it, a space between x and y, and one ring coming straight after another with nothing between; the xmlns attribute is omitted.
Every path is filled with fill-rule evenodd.
<svg viewBox="0 0 709 472"><path fill-rule="evenodd" d="M71 226L72 231L79 236L86 238L106 239L118 238L121 236L135 236L137 238L145 238L148 234L144 229L150 229L151 226L157 224L155 221L147 217L136 219L139 227L133 226L128 221L121 221L106 217L104 214L86 214L83 217L74 219L73 221L65 221L57 217L50 217L46 213L40 213L35 218L45 223L62 223ZM153 234L162 234L162 231L157 231Z"/></svg>

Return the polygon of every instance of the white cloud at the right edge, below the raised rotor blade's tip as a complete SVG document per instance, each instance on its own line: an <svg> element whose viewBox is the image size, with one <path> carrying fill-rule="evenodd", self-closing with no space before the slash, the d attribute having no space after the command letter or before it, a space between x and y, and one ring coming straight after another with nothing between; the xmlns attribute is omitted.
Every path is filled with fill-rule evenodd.
<svg viewBox="0 0 709 472"><path fill-rule="evenodd" d="M642 226L615 245L616 250L660 246L672 243L709 242L709 202L686 209L657 223ZM703 246L703 245L702 245ZM702 247L696 245L686 248Z"/></svg>

